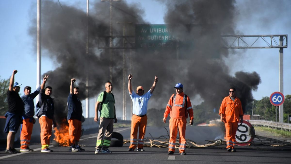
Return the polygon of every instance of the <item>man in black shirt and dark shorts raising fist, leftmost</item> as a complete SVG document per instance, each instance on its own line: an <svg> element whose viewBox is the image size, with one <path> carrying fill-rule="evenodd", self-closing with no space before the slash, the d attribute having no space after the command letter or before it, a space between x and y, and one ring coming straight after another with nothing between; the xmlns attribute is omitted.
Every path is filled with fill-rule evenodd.
<svg viewBox="0 0 291 164"><path fill-rule="evenodd" d="M10 77L9 89L7 91L8 111L5 114L6 124L4 127L4 133L8 133L5 152L10 154L20 153L14 149L13 145L15 133L22 123L22 114L24 111L24 104L18 94L22 84L14 83L14 75L16 73L17 70L13 70L12 76Z"/></svg>

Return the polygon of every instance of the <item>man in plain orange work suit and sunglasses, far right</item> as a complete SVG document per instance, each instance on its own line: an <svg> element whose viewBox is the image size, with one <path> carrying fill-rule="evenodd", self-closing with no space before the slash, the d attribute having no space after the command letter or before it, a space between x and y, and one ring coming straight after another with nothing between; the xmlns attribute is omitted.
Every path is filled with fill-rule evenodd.
<svg viewBox="0 0 291 164"><path fill-rule="evenodd" d="M235 97L235 88L229 89L229 96L224 97L219 109L220 121L224 122L226 129L226 149L235 150L235 134L237 132L238 121L243 122L242 103Z"/></svg>

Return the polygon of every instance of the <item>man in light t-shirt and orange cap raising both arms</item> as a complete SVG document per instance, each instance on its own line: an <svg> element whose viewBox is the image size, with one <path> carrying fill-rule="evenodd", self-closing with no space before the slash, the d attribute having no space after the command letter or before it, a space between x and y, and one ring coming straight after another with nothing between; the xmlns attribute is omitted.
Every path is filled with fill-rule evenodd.
<svg viewBox="0 0 291 164"><path fill-rule="evenodd" d="M150 90L144 93L143 87L138 86L136 88L136 93L132 92L132 74L128 76L128 91L132 99L132 120L131 120L131 132L130 132L130 146L127 151L134 151L137 144L137 151L144 151L143 149L143 138L145 136L145 128L148 121L146 116L148 108L148 100L152 96L155 90L156 84L159 80L157 75L155 76L155 81L152 84ZM139 140L137 140L137 131L139 129Z"/></svg>

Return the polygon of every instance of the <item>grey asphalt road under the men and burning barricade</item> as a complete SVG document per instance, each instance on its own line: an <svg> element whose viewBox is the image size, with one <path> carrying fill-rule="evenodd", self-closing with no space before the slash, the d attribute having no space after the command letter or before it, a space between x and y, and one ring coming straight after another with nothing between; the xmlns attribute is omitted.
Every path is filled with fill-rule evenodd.
<svg viewBox="0 0 291 164"><path fill-rule="evenodd" d="M225 146L215 146L207 148L187 149L187 155L182 156L178 149L174 155L167 155L167 148L145 147L144 152L128 152L129 144L123 147L110 147L111 154L94 154L97 130L87 131L81 137L80 144L86 151L69 152L69 147L51 147L52 153L41 153L40 144L33 143L30 148L34 149L29 153L18 153L8 155L1 144L0 163L291 163L290 147L270 147L270 146L237 146L237 152L226 151ZM115 129L129 138L130 128ZM199 144L207 143L205 140L214 140L221 135L221 130L215 127L187 126L186 138ZM150 134L151 135L150 135ZM167 135L164 128L147 127L145 137L159 137Z"/></svg>

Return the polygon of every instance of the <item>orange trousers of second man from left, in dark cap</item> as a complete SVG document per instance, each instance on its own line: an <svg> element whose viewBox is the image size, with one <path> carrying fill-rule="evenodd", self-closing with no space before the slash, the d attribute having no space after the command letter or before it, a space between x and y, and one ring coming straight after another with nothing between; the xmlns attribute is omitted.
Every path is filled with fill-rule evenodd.
<svg viewBox="0 0 291 164"><path fill-rule="evenodd" d="M22 128L20 132L20 149L27 149L30 144L33 123L29 122L30 118L22 120Z"/></svg>

